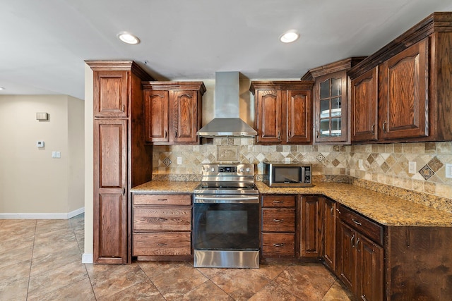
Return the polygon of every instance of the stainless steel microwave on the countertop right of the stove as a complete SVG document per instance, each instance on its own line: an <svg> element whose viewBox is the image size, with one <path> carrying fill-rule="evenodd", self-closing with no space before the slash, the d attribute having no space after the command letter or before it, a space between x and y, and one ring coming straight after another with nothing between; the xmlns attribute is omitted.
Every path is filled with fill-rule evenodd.
<svg viewBox="0 0 452 301"><path fill-rule="evenodd" d="M311 187L312 165L263 162L263 183L270 187Z"/></svg>

